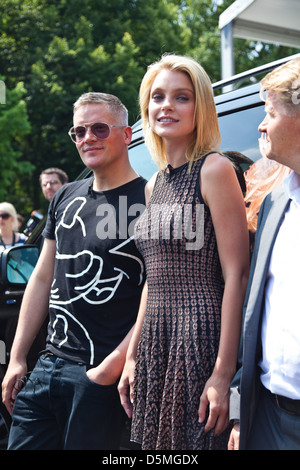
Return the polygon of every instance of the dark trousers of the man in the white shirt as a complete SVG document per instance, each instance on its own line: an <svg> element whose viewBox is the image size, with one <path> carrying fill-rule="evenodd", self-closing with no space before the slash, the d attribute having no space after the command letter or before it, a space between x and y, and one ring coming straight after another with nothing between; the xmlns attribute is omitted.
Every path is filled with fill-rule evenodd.
<svg viewBox="0 0 300 470"><path fill-rule="evenodd" d="M300 416L281 409L263 388L247 450L300 450Z"/></svg>

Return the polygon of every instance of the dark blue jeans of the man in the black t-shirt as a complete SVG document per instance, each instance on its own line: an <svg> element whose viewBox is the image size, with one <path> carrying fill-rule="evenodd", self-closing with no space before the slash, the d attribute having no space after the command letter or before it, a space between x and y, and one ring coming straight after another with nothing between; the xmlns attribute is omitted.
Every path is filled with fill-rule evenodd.
<svg viewBox="0 0 300 470"><path fill-rule="evenodd" d="M86 367L45 354L19 392L8 448L119 448L123 409L116 385L90 381Z"/></svg>

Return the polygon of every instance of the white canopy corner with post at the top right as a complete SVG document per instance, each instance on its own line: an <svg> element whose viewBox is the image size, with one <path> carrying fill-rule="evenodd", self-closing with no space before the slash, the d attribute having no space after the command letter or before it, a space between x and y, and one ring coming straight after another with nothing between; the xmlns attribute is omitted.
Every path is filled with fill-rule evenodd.
<svg viewBox="0 0 300 470"><path fill-rule="evenodd" d="M300 0L236 0L219 17L222 78L234 74L233 37L300 49Z"/></svg>

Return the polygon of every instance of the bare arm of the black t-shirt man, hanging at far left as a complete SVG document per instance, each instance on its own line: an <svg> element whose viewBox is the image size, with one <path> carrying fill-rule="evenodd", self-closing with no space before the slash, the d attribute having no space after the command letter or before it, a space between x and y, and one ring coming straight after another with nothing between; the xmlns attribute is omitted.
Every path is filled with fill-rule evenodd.
<svg viewBox="0 0 300 470"><path fill-rule="evenodd" d="M3 403L10 413L22 383L21 379L27 373L27 354L49 312L54 263L55 241L46 239L24 293L10 362L2 383Z"/></svg>

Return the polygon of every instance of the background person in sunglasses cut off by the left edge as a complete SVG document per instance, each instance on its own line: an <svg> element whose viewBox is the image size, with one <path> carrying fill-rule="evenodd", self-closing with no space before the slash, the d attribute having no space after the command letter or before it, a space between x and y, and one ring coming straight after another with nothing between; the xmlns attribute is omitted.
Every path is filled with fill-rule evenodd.
<svg viewBox="0 0 300 470"><path fill-rule="evenodd" d="M0 252L11 246L23 245L26 236L18 232L17 212L10 202L0 203Z"/></svg>

